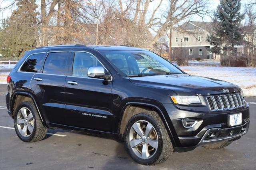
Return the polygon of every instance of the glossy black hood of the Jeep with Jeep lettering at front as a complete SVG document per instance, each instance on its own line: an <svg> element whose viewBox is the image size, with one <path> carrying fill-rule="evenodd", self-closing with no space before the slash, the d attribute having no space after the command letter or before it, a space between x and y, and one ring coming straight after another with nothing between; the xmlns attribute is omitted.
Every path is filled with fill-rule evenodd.
<svg viewBox="0 0 256 170"><path fill-rule="evenodd" d="M137 85L170 89L177 95L213 95L241 91L238 85L226 81L188 74L131 77Z"/></svg>

